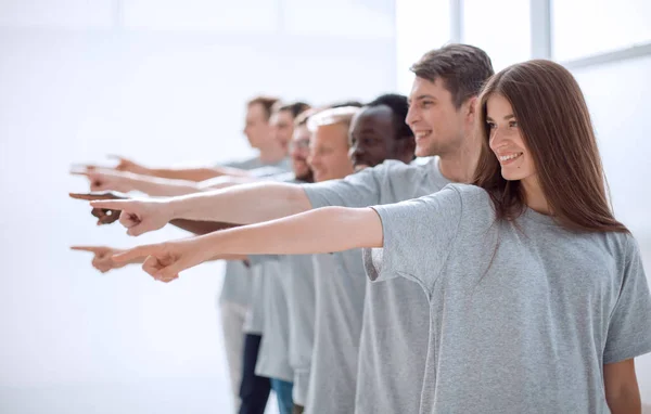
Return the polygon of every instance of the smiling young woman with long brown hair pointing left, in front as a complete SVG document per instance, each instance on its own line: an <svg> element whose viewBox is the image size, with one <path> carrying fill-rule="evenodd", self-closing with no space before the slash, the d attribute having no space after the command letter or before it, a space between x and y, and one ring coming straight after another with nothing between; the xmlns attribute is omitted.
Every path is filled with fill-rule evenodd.
<svg viewBox="0 0 651 414"><path fill-rule="evenodd" d="M651 297L636 242L609 208L578 85L548 61L513 65L477 113L474 185L117 258L150 256L144 269L170 281L221 254L371 248L371 280L407 277L430 301L421 412L640 412L634 358L651 351Z"/></svg>

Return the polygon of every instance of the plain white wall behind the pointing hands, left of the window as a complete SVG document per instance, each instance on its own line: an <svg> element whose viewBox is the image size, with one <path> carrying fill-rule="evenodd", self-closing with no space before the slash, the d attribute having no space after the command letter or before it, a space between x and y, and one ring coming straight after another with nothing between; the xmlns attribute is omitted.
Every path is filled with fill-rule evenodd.
<svg viewBox="0 0 651 414"><path fill-rule="evenodd" d="M324 103L396 88L391 1L280 10L260 0L250 15L227 2L214 13L208 1L125 0L118 27L115 3L0 2L2 413L214 413L230 403L220 264L169 285L137 267L97 273L68 246L184 234L135 241L117 225L95 228L85 203L66 196L87 190L67 174L72 163L241 157L253 94Z"/></svg>

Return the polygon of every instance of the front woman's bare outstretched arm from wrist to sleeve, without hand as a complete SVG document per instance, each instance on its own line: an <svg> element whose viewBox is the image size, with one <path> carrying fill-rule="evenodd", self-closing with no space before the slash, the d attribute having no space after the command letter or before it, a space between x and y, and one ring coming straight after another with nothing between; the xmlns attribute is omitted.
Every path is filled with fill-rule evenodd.
<svg viewBox="0 0 651 414"><path fill-rule="evenodd" d="M201 236L215 255L302 255L382 246L382 224L370 208L327 207Z"/></svg>

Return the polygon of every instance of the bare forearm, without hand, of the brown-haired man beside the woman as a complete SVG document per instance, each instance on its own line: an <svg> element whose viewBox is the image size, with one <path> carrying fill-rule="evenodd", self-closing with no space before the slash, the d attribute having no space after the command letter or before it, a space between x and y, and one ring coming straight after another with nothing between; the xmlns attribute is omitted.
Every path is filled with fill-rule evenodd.
<svg viewBox="0 0 651 414"><path fill-rule="evenodd" d="M266 182L175 197L169 208L175 219L251 224L303 212L311 205L299 185Z"/></svg>

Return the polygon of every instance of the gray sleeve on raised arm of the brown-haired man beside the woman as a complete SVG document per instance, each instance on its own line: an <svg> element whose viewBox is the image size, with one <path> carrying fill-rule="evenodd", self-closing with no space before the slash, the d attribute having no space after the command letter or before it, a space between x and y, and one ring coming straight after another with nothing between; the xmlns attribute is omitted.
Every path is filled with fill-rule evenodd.
<svg viewBox="0 0 651 414"><path fill-rule="evenodd" d="M404 163L386 160L383 164L366 168L342 180L304 184L312 208L342 206L369 207L381 204L384 192L404 179L413 169Z"/></svg>

